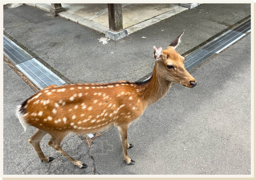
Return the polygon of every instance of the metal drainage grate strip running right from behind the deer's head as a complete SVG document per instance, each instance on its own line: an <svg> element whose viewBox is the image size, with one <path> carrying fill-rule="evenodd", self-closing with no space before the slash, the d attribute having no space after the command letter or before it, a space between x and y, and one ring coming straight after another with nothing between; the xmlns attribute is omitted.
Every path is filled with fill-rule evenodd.
<svg viewBox="0 0 256 180"><path fill-rule="evenodd" d="M188 72L198 67L207 58L216 55L223 49L227 48L231 44L235 43L241 37L245 36L246 32L251 31L251 20L246 21L233 30L228 30L221 36L208 42L201 49L196 50L187 56L185 56L185 68Z"/></svg>

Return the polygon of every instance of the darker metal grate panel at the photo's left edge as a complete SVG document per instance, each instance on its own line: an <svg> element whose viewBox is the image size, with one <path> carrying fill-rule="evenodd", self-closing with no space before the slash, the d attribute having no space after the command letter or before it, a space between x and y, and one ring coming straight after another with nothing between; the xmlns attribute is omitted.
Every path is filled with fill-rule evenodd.
<svg viewBox="0 0 256 180"><path fill-rule="evenodd" d="M5 40L5 39L4 39ZM7 39L6 39L7 40ZM31 59L13 43L4 43L4 52L16 63L20 64Z"/></svg>

